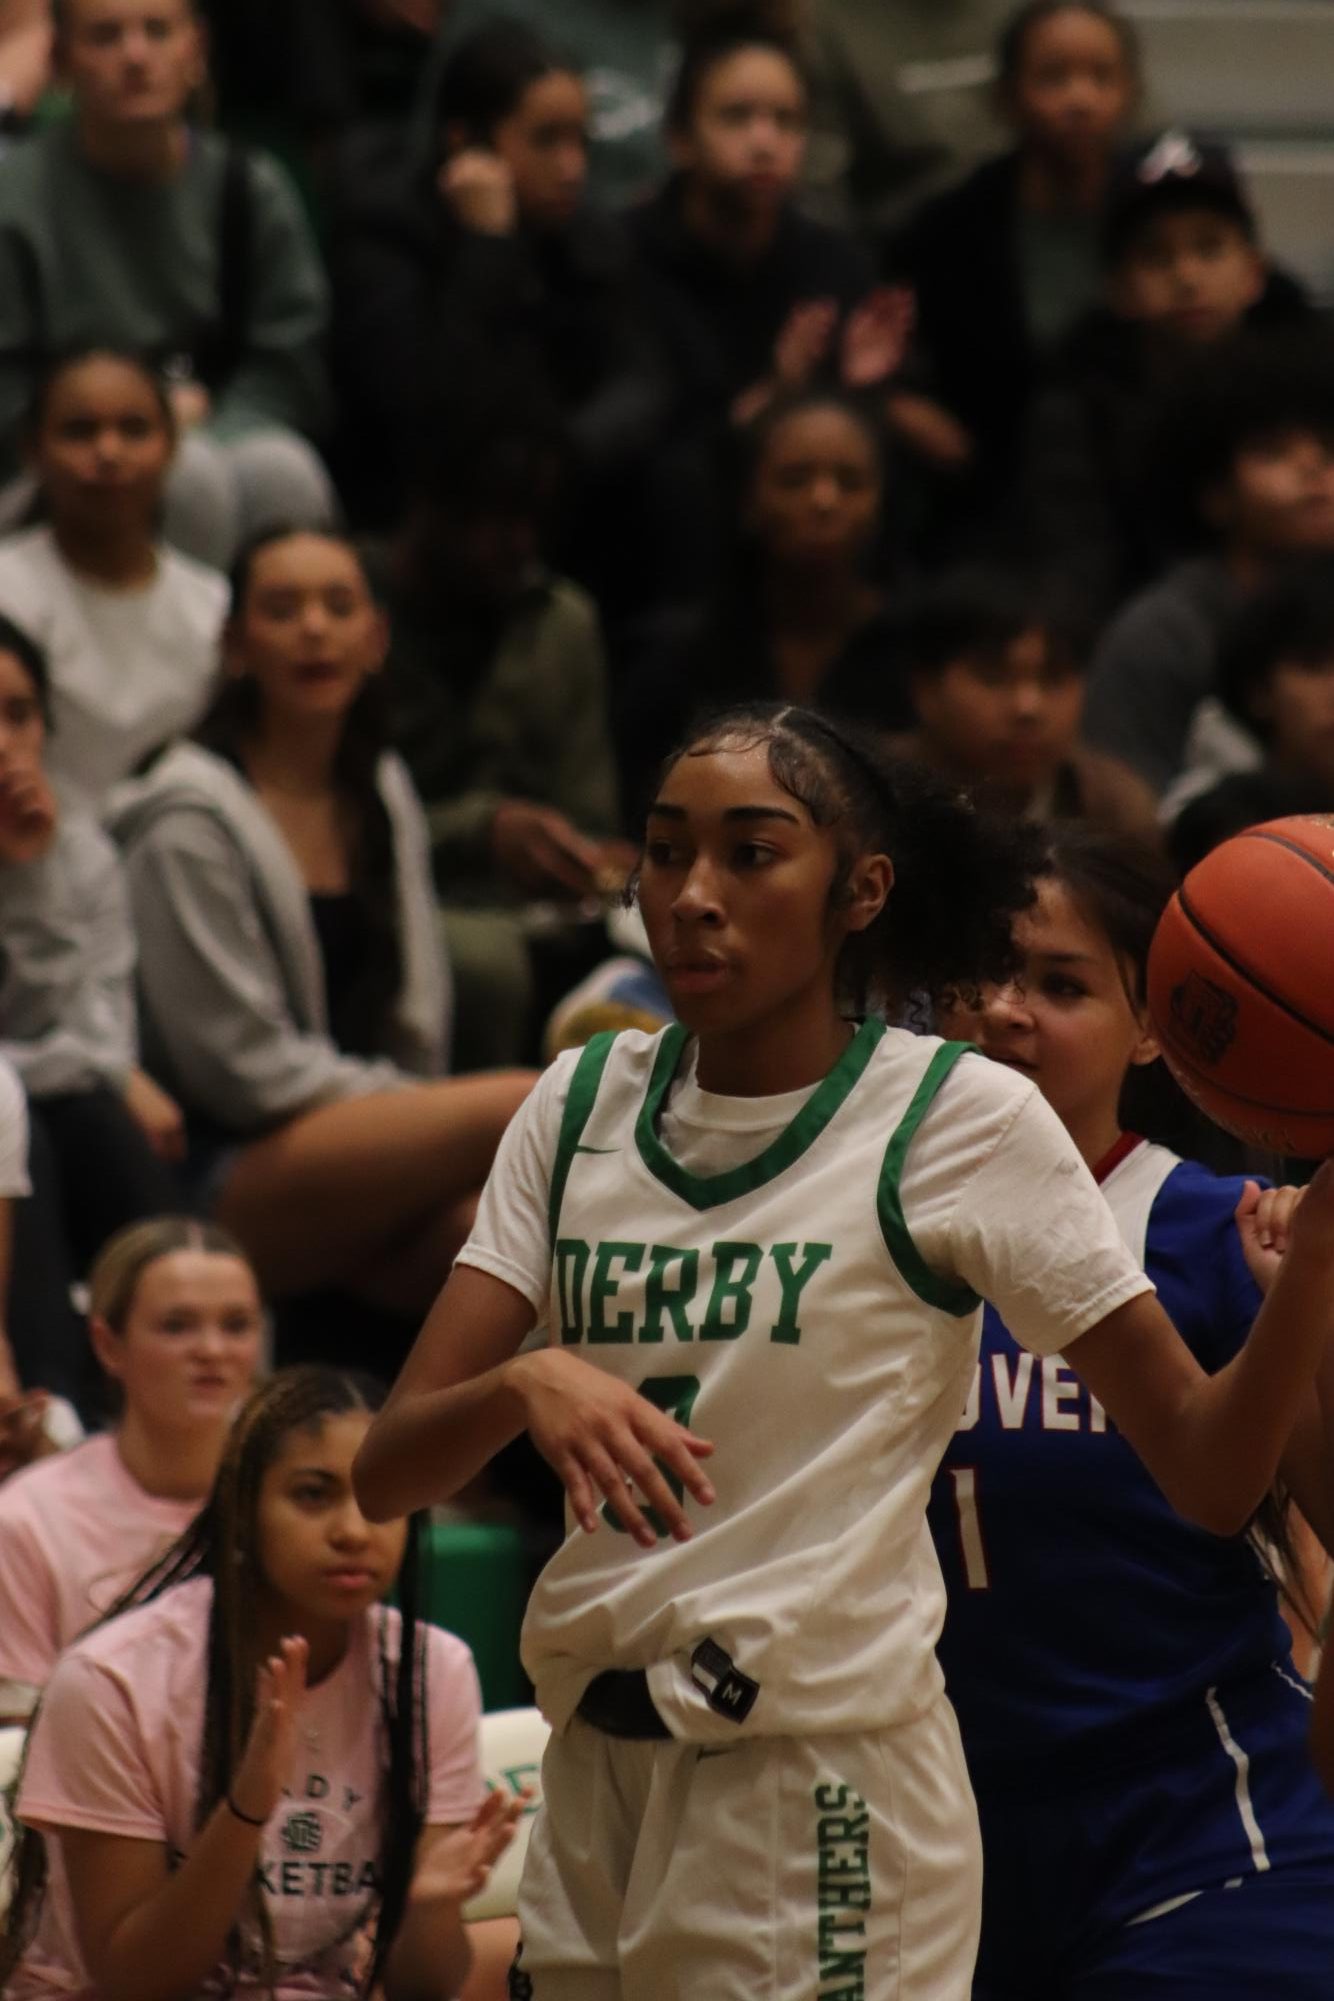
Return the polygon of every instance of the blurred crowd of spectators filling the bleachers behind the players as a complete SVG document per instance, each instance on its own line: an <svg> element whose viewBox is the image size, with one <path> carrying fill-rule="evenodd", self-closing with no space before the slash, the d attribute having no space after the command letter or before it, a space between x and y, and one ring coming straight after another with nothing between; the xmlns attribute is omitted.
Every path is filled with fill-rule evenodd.
<svg viewBox="0 0 1334 2001"><path fill-rule="evenodd" d="M112 1423L12 1713L208 1493L172 1285L228 1407L256 1289L390 1373L552 1011L654 1019L702 710L1334 806L1334 332L1150 94L1104 0L0 0L0 1477Z"/></svg>

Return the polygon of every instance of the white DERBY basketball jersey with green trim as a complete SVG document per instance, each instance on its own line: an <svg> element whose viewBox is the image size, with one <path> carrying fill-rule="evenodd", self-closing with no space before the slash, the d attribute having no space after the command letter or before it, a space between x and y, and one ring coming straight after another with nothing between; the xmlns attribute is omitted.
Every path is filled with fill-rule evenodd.
<svg viewBox="0 0 1334 2001"><path fill-rule="evenodd" d="M716 1501L654 1551L572 1529L524 1663L556 1729L606 1667L648 1669L684 1739L880 1729L942 1687L926 1497L980 1311L916 1253L900 1175L966 1051L868 1021L758 1159L698 1177L658 1139L686 1041L598 1037L580 1059L550 1327L716 1443Z"/></svg>

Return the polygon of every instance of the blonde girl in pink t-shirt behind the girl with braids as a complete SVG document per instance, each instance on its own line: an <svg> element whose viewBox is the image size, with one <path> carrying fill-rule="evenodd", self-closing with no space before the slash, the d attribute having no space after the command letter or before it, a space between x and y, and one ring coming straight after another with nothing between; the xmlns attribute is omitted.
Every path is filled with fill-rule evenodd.
<svg viewBox="0 0 1334 2001"><path fill-rule="evenodd" d="M132 1223L88 1275L108 1431L0 1487L0 1723L32 1711L78 1639L190 1527L260 1363L264 1307L236 1239Z"/></svg>

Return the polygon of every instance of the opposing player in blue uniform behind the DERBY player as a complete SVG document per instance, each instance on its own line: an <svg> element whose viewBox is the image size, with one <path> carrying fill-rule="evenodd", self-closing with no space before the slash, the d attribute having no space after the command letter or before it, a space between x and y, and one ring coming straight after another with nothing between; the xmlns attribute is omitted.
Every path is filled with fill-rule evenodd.
<svg viewBox="0 0 1334 2001"><path fill-rule="evenodd" d="M1016 926L1018 978L948 1027L1038 1085L1216 1371L1274 1283L1294 1191L1122 1129L1126 1079L1158 1055L1144 976L1170 890L1152 852L1058 832ZM1314 1391L1280 1471L1334 1549ZM974 2001L1332 1995L1334 1807L1254 1545L1182 1521L1062 1359L1024 1355L994 1307L930 1523L982 1817Z"/></svg>

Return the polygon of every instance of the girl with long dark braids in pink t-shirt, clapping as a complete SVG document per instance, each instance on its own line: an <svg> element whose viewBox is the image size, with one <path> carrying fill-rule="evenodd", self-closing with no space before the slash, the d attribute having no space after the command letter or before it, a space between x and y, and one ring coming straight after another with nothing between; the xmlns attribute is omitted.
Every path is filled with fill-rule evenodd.
<svg viewBox="0 0 1334 2001"><path fill-rule="evenodd" d="M62 1657L18 1793L8 2001L464 1991L460 1909L520 1809L484 1797L468 1649L418 1619L418 1523L352 1495L372 1403L272 1377L194 1527Z"/></svg>

